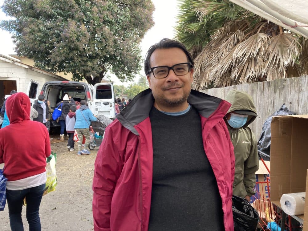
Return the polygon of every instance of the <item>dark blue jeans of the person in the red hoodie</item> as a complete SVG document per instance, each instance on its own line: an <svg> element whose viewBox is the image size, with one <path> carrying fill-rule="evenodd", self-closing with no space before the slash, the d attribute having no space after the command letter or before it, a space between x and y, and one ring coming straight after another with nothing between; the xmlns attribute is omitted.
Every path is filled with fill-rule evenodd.
<svg viewBox="0 0 308 231"><path fill-rule="evenodd" d="M26 197L26 218L29 231L41 231L39 205L43 197L45 184L22 190L6 190L6 200L9 208L10 226L12 231L23 231L22 202Z"/></svg>

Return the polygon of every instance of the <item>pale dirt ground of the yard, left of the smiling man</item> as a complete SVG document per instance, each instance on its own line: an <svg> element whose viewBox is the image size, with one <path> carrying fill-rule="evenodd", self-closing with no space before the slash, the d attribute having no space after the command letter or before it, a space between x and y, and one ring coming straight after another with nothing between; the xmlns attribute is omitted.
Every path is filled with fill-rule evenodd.
<svg viewBox="0 0 308 231"><path fill-rule="evenodd" d="M57 142L55 136L51 142ZM66 138L66 137L65 137ZM90 155L77 155L67 150L67 140L51 143L51 151L57 153L57 189L43 196L40 206L42 230L94 230L92 217L92 179L94 161L98 151ZM28 231L26 207L22 209L24 230ZM8 208L0 212L0 231L10 231Z"/></svg>

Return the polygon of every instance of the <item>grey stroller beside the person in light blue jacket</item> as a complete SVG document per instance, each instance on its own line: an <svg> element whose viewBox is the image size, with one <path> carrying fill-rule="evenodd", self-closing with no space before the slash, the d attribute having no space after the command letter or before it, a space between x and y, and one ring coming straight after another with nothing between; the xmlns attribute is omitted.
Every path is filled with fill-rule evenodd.
<svg viewBox="0 0 308 231"><path fill-rule="evenodd" d="M106 117L105 115L98 115L96 121L91 122L91 136L90 136L90 143L89 149L93 150L95 147L99 147L103 141L103 135L105 132L106 127L112 122L111 119ZM96 133L99 133L97 135Z"/></svg>

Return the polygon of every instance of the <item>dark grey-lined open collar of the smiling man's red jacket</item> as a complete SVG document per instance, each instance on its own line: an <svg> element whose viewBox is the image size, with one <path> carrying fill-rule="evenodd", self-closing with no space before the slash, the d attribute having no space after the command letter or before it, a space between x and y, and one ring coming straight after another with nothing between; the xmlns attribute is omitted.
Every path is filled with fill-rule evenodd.
<svg viewBox="0 0 308 231"><path fill-rule="evenodd" d="M195 90L191 90L187 101L197 109L201 116L208 119L215 114L217 121L225 116L230 107L230 104L225 100ZM225 103L221 104L222 101ZM136 95L120 114L116 115L116 118L125 128L139 135L134 126L148 118L153 103L152 90L148 88Z"/></svg>

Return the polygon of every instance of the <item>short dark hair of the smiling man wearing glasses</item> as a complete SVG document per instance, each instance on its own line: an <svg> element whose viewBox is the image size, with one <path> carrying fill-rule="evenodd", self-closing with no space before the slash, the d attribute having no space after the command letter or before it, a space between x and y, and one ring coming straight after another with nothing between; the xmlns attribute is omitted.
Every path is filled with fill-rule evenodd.
<svg viewBox="0 0 308 231"><path fill-rule="evenodd" d="M148 75L151 71L151 65L150 65L150 57L152 55L152 53L156 50L156 49L168 49L168 48L180 48L182 51L184 51L188 62L190 62L192 65L193 63L193 56L189 53L189 51L186 49L186 47L184 46L184 44L172 40L172 39L162 39L160 40L159 43L156 43L154 45L152 45L147 54L145 55L145 59L144 59L144 72L146 75Z"/></svg>

